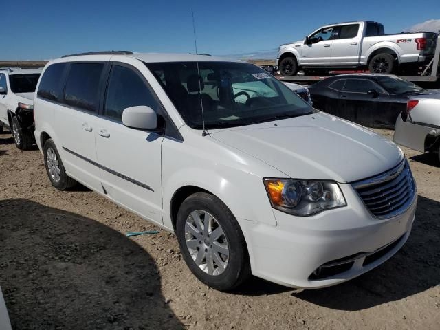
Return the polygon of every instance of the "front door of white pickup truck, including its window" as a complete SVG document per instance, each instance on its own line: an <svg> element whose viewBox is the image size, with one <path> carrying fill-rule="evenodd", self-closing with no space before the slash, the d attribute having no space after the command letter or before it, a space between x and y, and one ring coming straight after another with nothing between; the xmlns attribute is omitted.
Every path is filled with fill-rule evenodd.
<svg viewBox="0 0 440 330"><path fill-rule="evenodd" d="M333 27L322 28L309 36L309 44L301 46L300 65L327 65L331 63Z"/></svg>

